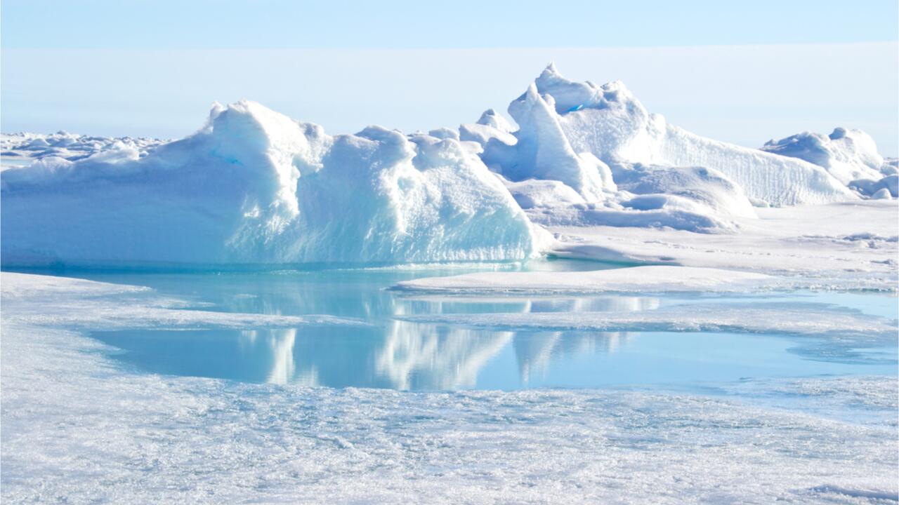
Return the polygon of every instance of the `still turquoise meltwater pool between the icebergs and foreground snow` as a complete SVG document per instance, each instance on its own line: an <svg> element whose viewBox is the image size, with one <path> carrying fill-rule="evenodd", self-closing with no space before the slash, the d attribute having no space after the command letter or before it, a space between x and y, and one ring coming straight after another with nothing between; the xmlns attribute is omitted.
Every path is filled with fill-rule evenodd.
<svg viewBox="0 0 899 505"><path fill-rule="evenodd" d="M534 261L528 270L595 270L587 261ZM522 267L500 267L516 268ZM93 332L138 372L403 390L668 386L701 389L746 377L895 376L894 342L834 352L809 338L720 332L513 332L411 323L397 316L651 310L685 303L824 302L895 318L896 298L792 293L776 297L432 297L388 290L417 277L468 270L284 270L228 273L78 273L148 286L204 310L336 315L368 326L234 331ZM845 346L843 346L845 347ZM842 349L843 351L845 349Z"/></svg>

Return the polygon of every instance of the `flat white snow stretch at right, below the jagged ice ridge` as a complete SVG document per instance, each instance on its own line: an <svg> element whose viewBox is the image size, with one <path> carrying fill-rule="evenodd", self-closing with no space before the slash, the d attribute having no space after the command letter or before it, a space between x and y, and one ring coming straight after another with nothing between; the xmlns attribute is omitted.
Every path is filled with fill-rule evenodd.
<svg viewBox="0 0 899 505"><path fill-rule="evenodd" d="M672 229L550 226L561 257L751 270L781 286L815 289L899 287L899 206L895 200L756 208L737 234Z"/></svg>

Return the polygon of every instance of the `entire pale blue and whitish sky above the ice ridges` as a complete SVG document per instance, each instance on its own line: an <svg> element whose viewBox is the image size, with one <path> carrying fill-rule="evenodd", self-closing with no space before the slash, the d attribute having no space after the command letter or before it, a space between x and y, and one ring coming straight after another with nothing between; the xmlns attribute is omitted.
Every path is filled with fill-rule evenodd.
<svg viewBox="0 0 899 505"><path fill-rule="evenodd" d="M3 0L0 128L180 137L241 98L331 133L455 126L555 60L709 137L847 126L895 155L897 19L895 0Z"/></svg>

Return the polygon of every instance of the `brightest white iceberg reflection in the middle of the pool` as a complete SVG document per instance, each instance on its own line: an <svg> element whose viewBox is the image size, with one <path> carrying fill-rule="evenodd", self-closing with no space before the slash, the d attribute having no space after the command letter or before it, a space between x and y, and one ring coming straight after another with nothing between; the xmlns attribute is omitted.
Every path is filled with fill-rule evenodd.
<svg viewBox="0 0 899 505"><path fill-rule="evenodd" d="M396 321L378 351L375 366L397 389L472 387L480 369L510 340L512 332Z"/></svg>

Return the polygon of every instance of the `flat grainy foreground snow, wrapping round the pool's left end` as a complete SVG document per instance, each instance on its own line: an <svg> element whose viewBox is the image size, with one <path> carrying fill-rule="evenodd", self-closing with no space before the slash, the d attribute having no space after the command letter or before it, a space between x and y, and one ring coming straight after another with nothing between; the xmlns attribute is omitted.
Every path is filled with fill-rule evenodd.
<svg viewBox="0 0 899 505"><path fill-rule="evenodd" d="M756 398L737 401L136 375L35 307L105 296L125 310L120 296L140 290L2 280L4 503L871 503L899 492L895 378L724 386Z"/></svg>

